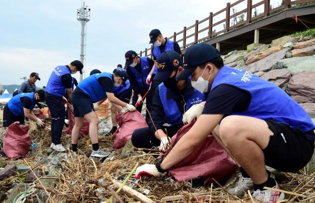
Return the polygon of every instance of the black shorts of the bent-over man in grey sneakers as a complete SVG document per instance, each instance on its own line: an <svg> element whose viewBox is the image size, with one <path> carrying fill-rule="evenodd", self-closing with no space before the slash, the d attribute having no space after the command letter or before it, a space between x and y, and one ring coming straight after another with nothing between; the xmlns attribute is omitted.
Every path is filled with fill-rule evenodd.
<svg viewBox="0 0 315 203"><path fill-rule="evenodd" d="M83 117L94 111L93 101L79 87L75 88L71 99L74 117Z"/></svg>

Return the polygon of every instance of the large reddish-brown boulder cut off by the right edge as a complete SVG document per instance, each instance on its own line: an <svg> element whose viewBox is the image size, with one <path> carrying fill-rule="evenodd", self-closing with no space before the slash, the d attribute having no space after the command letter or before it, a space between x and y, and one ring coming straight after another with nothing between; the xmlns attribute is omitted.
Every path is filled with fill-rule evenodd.
<svg viewBox="0 0 315 203"><path fill-rule="evenodd" d="M315 72L303 71L293 75L288 83L291 97L298 103L315 102Z"/></svg>

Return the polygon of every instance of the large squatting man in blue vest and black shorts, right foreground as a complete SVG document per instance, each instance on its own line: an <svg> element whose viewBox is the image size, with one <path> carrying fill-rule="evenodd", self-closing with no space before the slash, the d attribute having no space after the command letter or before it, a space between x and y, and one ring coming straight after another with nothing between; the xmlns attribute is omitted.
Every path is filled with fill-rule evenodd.
<svg viewBox="0 0 315 203"><path fill-rule="evenodd" d="M233 193L243 196L252 190L252 196L264 202L283 200L283 193L264 189L279 189L265 165L296 172L310 161L315 140L311 118L278 86L224 66L220 52L209 44L195 44L186 51L184 70L177 78L190 75L196 89L210 92L206 104L165 159L150 165L151 174L174 166L212 133L240 166L240 182Z"/></svg>

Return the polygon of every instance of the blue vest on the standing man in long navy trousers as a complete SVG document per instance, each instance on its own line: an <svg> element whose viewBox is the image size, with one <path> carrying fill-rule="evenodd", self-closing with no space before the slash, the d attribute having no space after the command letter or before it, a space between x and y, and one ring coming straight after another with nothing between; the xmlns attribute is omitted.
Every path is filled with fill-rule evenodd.
<svg viewBox="0 0 315 203"><path fill-rule="evenodd" d="M57 66L54 68L46 85L46 92L57 97L63 97L66 87L62 83L61 77L65 74L71 74L69 68L66 66Z"/></svg>

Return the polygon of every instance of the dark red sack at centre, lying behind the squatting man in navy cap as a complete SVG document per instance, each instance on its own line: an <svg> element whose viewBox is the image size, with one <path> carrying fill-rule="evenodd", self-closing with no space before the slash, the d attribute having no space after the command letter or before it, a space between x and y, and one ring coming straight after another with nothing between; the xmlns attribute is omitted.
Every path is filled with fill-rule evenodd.
<svg viewBox="0 0 315 203"><path fill-rule="evenodd" d="M121 127L114 140L114 150L124 147L133 135L134 130L148 127L146 120L138 111L127 111L117 114L116 120Z"/></svg>

